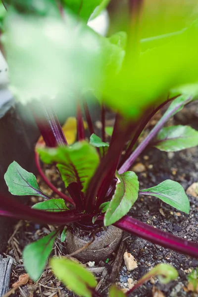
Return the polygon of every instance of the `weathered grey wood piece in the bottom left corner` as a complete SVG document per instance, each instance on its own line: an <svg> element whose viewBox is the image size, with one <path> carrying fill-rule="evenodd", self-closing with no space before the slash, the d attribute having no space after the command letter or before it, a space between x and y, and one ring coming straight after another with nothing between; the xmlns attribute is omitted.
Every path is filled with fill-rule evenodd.
<svg viewBox="0 0 198 297"><path fill-rule="evenodd" d="M9 290L12 262L12 257L3 258L0 255L0 297Z"/></svg>

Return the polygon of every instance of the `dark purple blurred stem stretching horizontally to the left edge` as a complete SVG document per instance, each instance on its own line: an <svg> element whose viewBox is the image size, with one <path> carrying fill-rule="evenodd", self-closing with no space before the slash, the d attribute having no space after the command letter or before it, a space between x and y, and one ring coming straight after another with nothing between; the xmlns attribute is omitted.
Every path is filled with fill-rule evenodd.
<svg viewBox="0 0 198 297"><path fill-rule="evenodd" d="M0 206L3 208L0 211L0 215L8 216L12 214L13 217L23 220L31 220L34 222L42 224L54 224L54 225L64 225L73 222L77 222L81 219L90 218L89 214L79 213L73 210L67 210L64 213L54 213L44 210L32 209L29 206L26 206L15 199L9 197L3 197L0 195Z"/></svg>

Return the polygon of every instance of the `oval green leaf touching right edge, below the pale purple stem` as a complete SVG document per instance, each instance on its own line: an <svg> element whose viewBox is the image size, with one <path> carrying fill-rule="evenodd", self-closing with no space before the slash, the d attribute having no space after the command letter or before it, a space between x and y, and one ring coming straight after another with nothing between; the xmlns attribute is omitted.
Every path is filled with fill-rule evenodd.
<svg viewBox="0 0 198 297"><path fill-rule="evenodd" d="M178 151L198 146L198 131L189 126L171 126L162 128L154 147L163 151Z"/></svg>

